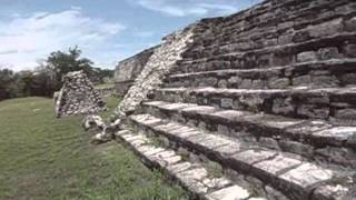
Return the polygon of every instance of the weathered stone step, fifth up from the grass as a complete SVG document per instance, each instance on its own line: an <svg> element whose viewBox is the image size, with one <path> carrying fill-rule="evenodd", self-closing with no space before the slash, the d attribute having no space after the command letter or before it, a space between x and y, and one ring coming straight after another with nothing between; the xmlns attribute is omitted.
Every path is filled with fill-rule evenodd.
<svg viewBox="0 0 356 200"><path fill-rule="evenodd" d="M309 61L268 69L228 69L176 73L166 80L166 88L214 87L236 89L286 89L346 87L356 84L356 59Z"/></svg>

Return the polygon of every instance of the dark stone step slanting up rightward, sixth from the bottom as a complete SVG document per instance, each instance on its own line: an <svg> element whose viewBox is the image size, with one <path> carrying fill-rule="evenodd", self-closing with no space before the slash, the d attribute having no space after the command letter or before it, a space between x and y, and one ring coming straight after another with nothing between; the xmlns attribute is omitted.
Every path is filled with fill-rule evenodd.
<svg viewBox="0 0 356 200"><path fill-rule="evenodd" d="M177 72L199 72L221 69L267 69L298 62L356 58L356 32L342 32L300 43L273 46L264 49L200 54L187 51Z"/></svg>

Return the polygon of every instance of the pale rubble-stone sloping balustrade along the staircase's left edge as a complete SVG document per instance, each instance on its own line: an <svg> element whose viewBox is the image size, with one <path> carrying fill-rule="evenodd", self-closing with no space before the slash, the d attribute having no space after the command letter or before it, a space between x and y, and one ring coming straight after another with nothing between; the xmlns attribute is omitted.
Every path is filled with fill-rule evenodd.
<svg viewBox="0 0 356 200"><path fill-rule="evenodd" d="M162 83L165 77L175 68L181 59L180 54L186 51L192 43L192 36L196 26L176 31L164 38L164 42L149 58L144 70L138 76L135 84L126 93L123 100L118 106L116 117L125 116L125 113L135 111L135 109L144 101L147 96Z"/></svg>

